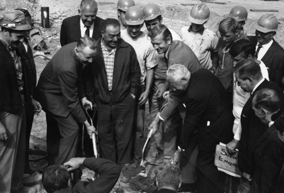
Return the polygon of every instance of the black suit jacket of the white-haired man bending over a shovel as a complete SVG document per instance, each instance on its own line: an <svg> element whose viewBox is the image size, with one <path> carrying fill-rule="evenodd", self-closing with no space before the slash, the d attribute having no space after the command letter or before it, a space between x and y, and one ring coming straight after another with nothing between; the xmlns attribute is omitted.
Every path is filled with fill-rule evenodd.
<svg viewBox="0 0 284 193"><path fill-rule="evenodd" d="M219 142L230 142L234 117L225 88L214 74L204 68L191 74L183 103L186 106L180 139L183 148L189 146L196 130L199 132L199 150L203 153L215 152Z"/></svg>

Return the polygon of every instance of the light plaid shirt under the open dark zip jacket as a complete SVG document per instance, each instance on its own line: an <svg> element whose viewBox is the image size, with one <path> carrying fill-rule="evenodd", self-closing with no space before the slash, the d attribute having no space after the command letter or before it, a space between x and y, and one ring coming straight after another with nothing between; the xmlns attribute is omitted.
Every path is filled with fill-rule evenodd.
<svg viewBox="0 0 284 193"><path fill-rule="evenodd" d="M114 68L114 55L116 52L116 48L112 49L112 51L108 51L103 44L103 38L101 39L101 51L103 52L104 56L104 65L106 67L106 74L107 74L107 83L109 86L109 90L112 90L112 74Z"/></svg>

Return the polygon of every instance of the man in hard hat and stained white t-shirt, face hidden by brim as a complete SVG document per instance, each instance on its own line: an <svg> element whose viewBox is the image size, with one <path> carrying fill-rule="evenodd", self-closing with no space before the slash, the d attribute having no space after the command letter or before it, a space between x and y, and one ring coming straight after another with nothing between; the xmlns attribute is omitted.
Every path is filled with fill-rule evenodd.
<svg viewBox="0 0 284 193"><path fill-rule="evenodd" d="M188 15L191 25L182 27L179 32L183 42L192 49L199 59L201 67L206 69L212 67L212 62L218 62L218 37L213 31L204 28L209 17L209 8L205 4L196 4Z"/></svg>

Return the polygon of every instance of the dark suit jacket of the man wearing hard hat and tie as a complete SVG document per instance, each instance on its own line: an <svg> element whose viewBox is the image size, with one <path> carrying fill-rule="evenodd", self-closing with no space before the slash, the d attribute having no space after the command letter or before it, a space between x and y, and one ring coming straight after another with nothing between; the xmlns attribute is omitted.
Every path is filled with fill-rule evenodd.
<svg viewBox="0 0 284 193"><path fill-rule="evenodd" d="M257 44L256 36L247 36L247 38ZM261 61L268 68L269 80L278 84L283 90L281 80L284 76L284 49L275 39L273 39L272 45L262 57Z"/></svg>

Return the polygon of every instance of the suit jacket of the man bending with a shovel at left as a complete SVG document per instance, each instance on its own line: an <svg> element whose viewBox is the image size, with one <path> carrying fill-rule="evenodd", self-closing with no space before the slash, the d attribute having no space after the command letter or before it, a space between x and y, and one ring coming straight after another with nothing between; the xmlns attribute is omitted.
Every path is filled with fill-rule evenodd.
<svg viewBox="0 0 284 193"><path fill-rule="evenodd" d="M78 122L84 122L87 118L78 97L83 65L77 59L76 44L73 42L63 46L43 69L35 99L44 111L60 117L72 113Z"/></svg>

